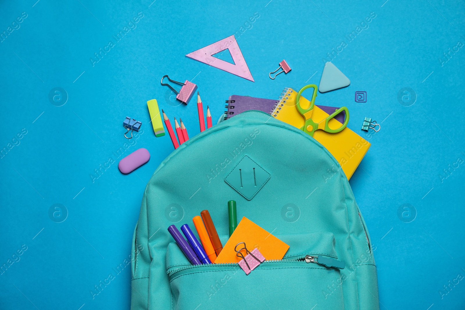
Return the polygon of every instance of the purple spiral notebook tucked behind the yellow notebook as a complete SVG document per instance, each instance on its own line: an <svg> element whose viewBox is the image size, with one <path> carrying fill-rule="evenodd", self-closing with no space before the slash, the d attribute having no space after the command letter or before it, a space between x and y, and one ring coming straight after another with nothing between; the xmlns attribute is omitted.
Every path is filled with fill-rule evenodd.
<svg viewBox="0 0 465 310"><path fill-rule="evenodd" d="M232 118L234 115L240 114L242 112L248 110L260 110L270 114L273 111L273 107L276 105L276 100L273 99L263 99L263 98L255 98L249 96L239 96L239 95L232 95L229 96L229 100L226 100L225 108L228 109L226 111L226 119ZM335 108L333 106L318 106L321 110L325 111L328 114L332 114L339 108ZM342 111L334 119L337 119L340 123L344 123L345 119L345 112Z"/></svg>

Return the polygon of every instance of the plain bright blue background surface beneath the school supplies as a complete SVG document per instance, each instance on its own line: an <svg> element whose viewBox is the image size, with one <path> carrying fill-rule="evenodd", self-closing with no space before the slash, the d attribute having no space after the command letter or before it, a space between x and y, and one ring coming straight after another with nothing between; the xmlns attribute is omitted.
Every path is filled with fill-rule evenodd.
<svg viewBox="0 0 465 310"><path fill-rule="evenodd" d="M465 276L465 46L447 62L443 55L465 44L463 2L35 1L2 1L0 10L2 33L27 13L0 43L0 147L16 144L0 159L0 264L27 246L2 270L1 309L129 308L130 268L90 292L129 258L146 182L173 151L168 135L155 138L146 101L157 99L172 123L182 118L191 137L199 132L195 97L178 106L161 76L193 80L216 122L232 94L277 99L284 87L318 85L322 59L341 41L332 62L351 85L319 93L317 104L347 106L348 126L372 144L350 184L375 249L380 307L464 309L464 280L443 287ZM185 57L233 33L255 83ZM292 71L269 79L282 59ZM54 87L66 91L65 105L49 101ZM403 87L416 93L412 106L398 101ZM367 92L366 103L354 101L356 91ZM113 152L128 142L126 116L142 121L143 133L123 156L145 147L151 159L123 175ZM366 136L365 117L381 130ZM116 162L91 177L109 157ZM61 223L49 217L53 204L66 208ZM402 204L413 207L398 216Z"/></svg>

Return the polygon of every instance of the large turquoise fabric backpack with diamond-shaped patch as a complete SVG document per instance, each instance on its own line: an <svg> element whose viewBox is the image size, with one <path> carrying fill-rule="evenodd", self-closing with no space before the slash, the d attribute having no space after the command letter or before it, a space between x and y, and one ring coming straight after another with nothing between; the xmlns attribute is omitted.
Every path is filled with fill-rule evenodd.
<svg viewBox="0 0 465 310"><path fill-rule="evenodd" d="M256 167L261 179L244 175L242 187L228 184L241 165ZM249 275L238 264L189 263L168 226L195 231L192 218L207 209L224 245L228 200L237 202L238 222L249 218L290 246L282 260ZM264 112L199 133L159 165L142 198L132 251L132 310L379 309L370 236L339 163L308 134ZM345 268L307 263L306 255L344 261Z"/></svg>

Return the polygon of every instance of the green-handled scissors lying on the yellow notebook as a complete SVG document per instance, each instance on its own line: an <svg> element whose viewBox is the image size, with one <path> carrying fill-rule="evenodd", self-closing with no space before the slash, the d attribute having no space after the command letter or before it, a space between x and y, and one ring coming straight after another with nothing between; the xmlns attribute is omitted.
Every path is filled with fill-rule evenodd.
<svg viewBox="0 0 465 310"><path fill-rule="evenodd" d="M302 108L300 106L300 95L307 88L311 88L311 87L313 88L313 95L312 95L312 100L310 100L310 107L308 109L304 109L304 108ZM313 114L313 106L315 106L315 98L317 96L317 90L318 90L318 86L316 86L314 84L310 84L310 85L306 85L306 86L302 87L299 90L299 92L297 93L296 107L297 107L297 110L299 111L299 113L302 114L302 116L305 119L305 124L304 124L303 127L300 128L300 130L303 130L304 132L308 133L312 137L313 137L313 133L315 133L315 131L318 130L318 129L324 130L324 131L329 132L329 133L340 132L341 130L343 130L347 126L347 123L349 122L349 110L347 109L347 107L343 106L343 107L337 109L336 111L334 111L334 113L332 113L326 119L323 119L319 123L315 123L313 121L313 119L312 119L312 114ZM336 115L338 115L342 111L345 111L344 124L342 124L342 126L340 126L337 129L329 128L329 126L328 126L329 120L334 118Z"/></svg>

